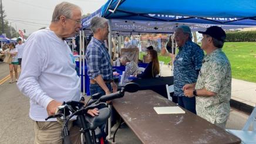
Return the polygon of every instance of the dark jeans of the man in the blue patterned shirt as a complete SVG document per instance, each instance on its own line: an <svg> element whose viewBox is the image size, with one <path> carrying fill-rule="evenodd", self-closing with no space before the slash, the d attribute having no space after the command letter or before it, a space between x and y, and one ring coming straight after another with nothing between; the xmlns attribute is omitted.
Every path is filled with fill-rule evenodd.
<svg viewBox="0 0 256 144"><path fill-rule="evenodd" d="M188 111L197 114L196 112L196 97L178 97L178 105L187 109Z"/></svg>

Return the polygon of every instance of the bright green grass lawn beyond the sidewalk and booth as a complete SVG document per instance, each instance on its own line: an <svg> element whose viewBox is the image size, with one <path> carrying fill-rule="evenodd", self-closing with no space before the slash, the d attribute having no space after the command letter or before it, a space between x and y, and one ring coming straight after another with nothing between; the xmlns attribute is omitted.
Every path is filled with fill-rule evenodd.
<svg viewBox="0 0 256 144"><path fill-rule="evenodd" d="M231 63L232 77L256 83L256 42L226 42L223 52ZM146 53L140 53L140 59ZM169 56L159 56L159 61L169 63Z"/></svg>

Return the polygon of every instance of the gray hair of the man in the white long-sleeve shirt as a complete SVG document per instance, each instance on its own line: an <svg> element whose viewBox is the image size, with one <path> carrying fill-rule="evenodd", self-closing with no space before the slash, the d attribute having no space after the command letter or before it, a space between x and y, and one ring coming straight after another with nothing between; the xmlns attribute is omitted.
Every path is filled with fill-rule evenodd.
<svg viewBox="0 0 256 144"><path fill-rule="evenodd" d="M55 6L52 14L52 22L58 22L60 16L66 16L67 18L72 18L73 9L80 9L78 5L71 4L69 2L62 2Z"/></svg>

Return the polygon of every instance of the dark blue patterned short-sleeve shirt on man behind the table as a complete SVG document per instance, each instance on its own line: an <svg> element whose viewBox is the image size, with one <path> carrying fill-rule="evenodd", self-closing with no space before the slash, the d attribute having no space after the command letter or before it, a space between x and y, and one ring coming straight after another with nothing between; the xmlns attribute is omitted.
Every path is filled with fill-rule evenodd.
<svg viewBox="0 0 256 144"><path fill-rule="evenodd" d="M188 40L182 47L178 47L178 54L174 60L174 95L183 97L185 84L197 82L198 73L202 66L204 52L196 43Z"/></svg>

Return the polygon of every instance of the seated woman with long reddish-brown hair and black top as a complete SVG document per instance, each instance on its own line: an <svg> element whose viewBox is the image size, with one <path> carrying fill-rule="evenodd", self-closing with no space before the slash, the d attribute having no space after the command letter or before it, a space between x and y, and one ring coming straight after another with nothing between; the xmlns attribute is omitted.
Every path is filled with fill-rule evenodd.
<svg viewBox="0 0 256 144"><path fill-rule="evenodd" d="M150 63L142 74L137 75L138 78L154 78L160 72L156 50L149 50L147 53L147 59L149 59Z"/></svg>

